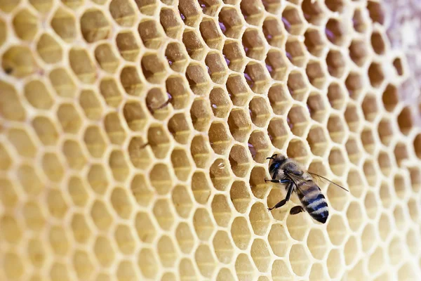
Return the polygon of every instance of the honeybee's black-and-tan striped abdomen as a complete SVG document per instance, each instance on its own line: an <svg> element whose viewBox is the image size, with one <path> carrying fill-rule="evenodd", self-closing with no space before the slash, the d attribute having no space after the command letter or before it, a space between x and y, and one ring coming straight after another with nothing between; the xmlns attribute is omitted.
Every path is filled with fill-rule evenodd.
<svg viewBox="0 0 421 281"><path fill-rule="evenodd" d="M297 192L302 207L307 213L316 221L326 223L329 216L328 203L320 188L313 183L312 185L298 187Z"/></svg>

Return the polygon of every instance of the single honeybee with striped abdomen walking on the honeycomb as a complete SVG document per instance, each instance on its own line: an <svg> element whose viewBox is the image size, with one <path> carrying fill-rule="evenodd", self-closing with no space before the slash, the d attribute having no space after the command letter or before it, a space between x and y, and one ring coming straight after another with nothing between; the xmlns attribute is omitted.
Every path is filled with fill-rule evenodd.
<svg viewBox="0 0 421 281"><path fill-rule="evenodd" d="M290 214L295 215L302 211L307 211L314 220L319 221L320 223L326 223L329 216L328 204L319 186L314 183L312 176L323 178L330 183L333 183L333 181L328 180L328 178L325 178L324 176L305 171L300 164L283 155L274 154L272 157L267 157L266 159L270 159L269 174L272 177L272 180L267 180L265 178L265 182L284 183L286 184L287 190L285 199L278 202L274 207L267 209L272 211L272 209L282 207L290 200L290 196L295 190L302 206L293 207L290 209ZM342 186L336 183L333 184L349 192L349 190Z"/></svg>

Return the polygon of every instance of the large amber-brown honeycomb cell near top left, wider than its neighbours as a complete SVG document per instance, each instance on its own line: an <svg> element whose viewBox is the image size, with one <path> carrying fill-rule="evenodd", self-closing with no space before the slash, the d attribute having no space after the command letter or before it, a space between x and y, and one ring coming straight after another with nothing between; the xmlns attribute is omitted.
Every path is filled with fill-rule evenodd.
<svg viewBox="0 0 421 281"><path fill-rule="evenodd" d="M88 43L107 39L111 24L100 10L90 9L81 16L81 32Z"/></svg>

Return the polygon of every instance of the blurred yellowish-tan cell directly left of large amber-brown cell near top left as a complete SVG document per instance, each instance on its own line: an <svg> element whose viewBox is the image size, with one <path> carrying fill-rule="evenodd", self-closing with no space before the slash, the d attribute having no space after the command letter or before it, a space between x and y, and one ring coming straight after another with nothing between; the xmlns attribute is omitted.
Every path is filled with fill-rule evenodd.
<svg viewBox="0 0 421 281"><path fill-rule="evenodd" d="M77 29L74 15L64 8L58 8L57 11L55 11L50 24L55 33L64 41L71 42L76 39Z"/></svg>

